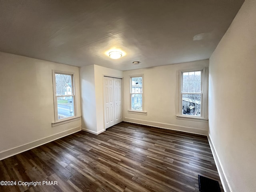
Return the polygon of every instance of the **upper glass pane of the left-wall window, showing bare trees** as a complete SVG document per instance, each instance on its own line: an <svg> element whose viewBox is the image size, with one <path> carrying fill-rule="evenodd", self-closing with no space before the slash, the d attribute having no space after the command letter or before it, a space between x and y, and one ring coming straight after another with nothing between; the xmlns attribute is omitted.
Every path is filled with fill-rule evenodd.
<svg viewBox="0 0 256 192"><path fill-rule="evenodd" d="M72 95L72 75L55 74L56 95Z"/></svg>

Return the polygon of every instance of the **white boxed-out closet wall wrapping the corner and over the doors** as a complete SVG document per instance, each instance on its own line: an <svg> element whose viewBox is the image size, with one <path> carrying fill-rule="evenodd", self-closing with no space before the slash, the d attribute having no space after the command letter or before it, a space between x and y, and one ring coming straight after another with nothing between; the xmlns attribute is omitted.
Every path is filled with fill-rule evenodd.
<svg viewBox="0 0 256 192"><path fill-rule="evenodd" d="M104 129L103 76L122 78L123 72L98 65L80 67L82 130L100 134Z"/></svg>

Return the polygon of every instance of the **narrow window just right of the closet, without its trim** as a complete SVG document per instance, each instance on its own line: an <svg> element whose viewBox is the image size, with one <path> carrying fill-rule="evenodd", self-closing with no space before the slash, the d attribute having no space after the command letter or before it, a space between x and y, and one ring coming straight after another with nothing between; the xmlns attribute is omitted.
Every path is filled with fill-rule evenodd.
<svg viewBox="0 0 256 192"><path fill-rule="evenodd" d="M131 77L130 99L132 111L143 111L143 79L142 76Z"/></svg>

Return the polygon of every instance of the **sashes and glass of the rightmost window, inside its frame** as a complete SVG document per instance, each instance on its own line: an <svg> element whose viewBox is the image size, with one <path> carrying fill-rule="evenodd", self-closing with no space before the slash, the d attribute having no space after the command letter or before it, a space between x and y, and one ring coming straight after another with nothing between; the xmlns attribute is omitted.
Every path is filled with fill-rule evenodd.
<svg viewBox="0 0 256 192"><path fill-rule="evenodd" d="M181 115L202 117L203 70L186 71L181 75Z"/></svg>

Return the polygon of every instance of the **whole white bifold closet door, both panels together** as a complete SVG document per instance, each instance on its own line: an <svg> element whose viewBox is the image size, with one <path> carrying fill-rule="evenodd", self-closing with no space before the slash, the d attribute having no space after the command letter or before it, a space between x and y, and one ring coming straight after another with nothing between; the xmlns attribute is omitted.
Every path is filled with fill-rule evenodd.
<svg viewBox="0 0 256 192"><path fill-rule="evenodd" d="M122 122L122 79L104 76L105 129Z"/></svg>

